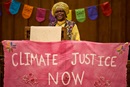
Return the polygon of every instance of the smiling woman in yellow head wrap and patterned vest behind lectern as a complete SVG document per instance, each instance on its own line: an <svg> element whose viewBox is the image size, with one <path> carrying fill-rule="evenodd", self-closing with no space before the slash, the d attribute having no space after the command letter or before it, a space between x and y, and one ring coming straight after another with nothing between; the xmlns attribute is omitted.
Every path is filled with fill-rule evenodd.
<svg viewBox="0 0 130 87"><path fill-rule="evenodd" d="M66 40L80 40L80 34L78 27L73 21L67 20L67 14L69 13L69 6L64 2L58 2L52 7L52 15L56 18L55 22L51 22L50 26L62 26L66 29Z"/></svg>

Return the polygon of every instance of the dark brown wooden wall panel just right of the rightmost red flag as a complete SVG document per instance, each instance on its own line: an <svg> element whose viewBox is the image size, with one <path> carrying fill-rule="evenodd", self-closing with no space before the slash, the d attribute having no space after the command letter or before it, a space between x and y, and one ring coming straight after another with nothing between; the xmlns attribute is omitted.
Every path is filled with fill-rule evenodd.
<svg viewBox="0 0 130 87"><path fill-rule="evenodd" d="M116 3L116 4L115 4ZM122 32L122 28L123 28L123 19L122 17L125 16L125 14L123 14L123 10L125 10L126 8L124 8L122 10L123 7L122 6L123 1L122 0L113 0L112 1L112 9L113 9L113 13L112 13L112 23L111 23L111 42L122 42L123 40L123 32ZM125 29L124 29L125 30Z"/></svg>

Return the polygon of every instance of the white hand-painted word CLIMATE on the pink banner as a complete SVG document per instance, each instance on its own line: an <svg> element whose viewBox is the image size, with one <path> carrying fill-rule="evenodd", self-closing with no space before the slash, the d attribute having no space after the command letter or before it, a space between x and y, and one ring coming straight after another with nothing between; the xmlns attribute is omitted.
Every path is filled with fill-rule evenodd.
<svg viewBox="0 0 130 87"><path fill-rule="evenodd" d="M19 52L12 54L12 64L14 66L18 65L32 65L32 64L37 64L37 66L41 66L43 63L44 66L49 66L51 65L58 65L57 61L58 54L50 54L50 53L45 53L44 56L42 54L32 54L29 52ZM50 61L51 60L51 61ZM17 61L17 62L16 62Z"/></svg>

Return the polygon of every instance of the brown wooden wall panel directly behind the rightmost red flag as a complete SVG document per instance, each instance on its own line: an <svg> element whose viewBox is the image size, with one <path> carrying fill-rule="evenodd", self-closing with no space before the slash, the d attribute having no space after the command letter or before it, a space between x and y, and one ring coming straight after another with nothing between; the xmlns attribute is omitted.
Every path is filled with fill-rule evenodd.
<svg viewBox="0 0 130 87"><path fill-rule="evenodd" d="M101 10L100 4L105 3L104 0L98 2L98 41L99 42L110 42L111 34L111 15L105 16ZM109 2L111 4L111 2Z"/></svg>

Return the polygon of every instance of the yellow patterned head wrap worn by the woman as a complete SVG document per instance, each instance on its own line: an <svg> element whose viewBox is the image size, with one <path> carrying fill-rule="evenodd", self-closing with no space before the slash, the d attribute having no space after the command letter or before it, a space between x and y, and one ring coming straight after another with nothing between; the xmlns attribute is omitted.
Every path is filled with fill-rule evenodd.
<svg viewBox="0 0 130 87"><path fill-rule="evenodd" d="M69 6L64 2L58 2L58 3L54 4L52 7L52 15L53 16L58 8L63 9L65 11L66 15L69 13Z"/></svg>

